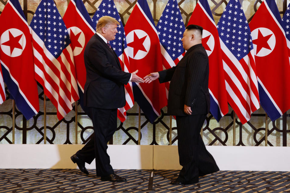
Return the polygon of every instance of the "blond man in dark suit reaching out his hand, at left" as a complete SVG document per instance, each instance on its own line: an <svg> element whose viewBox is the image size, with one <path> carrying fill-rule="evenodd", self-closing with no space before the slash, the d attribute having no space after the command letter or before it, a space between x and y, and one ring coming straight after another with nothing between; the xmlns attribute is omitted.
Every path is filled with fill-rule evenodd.
<svg viewBox="0 0 290 193"><path fill-rule="evenodd" d="M117 129L117 108L125 106L124 84L129 81L141 83L135 71L132 74L122 71L116 53L109 41L115 39L117 25L113 17L104 16L98 20L96 33L85 47L84 59L86 83L84 106L92 119L94 133L85 146L71 157L79 169L89 174L85 163L96 161L96 174L102 181L125 181L114 173L107 153L107 142Z"/></svg>

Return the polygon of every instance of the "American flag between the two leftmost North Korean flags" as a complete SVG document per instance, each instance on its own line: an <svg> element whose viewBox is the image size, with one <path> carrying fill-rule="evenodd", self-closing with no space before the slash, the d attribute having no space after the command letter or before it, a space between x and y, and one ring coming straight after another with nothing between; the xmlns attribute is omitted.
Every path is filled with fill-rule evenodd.
<svg viewBox="0 0 290 193"><path fill-rule="evenodd" d="M79 93L69 34L53 0L40 2L30 28L35 79L63 119Z"/></svg>

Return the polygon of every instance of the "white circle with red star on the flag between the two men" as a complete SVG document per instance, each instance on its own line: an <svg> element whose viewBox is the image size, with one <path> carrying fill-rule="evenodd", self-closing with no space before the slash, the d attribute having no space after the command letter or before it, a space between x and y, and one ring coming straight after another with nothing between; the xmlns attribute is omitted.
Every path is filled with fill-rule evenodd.
<svg viewBox="0 0 290 193"><path fill-rule="evenodd" d="M142 39L142 41L143 41L142 45L144 46L146 52L143 51L143 50L138 49L137 47L135 47L135 48L130 47L130 45L131 45L130 43L134 42L134 33L139 38L139 40L145 37L144 40ZM150 50L150 38L149 38L148 34L145 31L143 31L143 30L132 30L126 36L126 40L127 40L128 56L130 58L135 59L135 60L140 60L140 59L144 58L148 54L148 52ZM137 53L135 53L135 55L134 55L134 49L138 49L138 51L137 51ZM135 52L136 52L136 50L135 50Z"/></svg>

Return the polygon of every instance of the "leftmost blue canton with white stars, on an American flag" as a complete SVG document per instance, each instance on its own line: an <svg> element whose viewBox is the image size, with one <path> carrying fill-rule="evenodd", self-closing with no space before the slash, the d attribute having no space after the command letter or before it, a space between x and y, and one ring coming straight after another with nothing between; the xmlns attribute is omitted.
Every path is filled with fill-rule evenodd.
<svg viewBox="0 0 290 193"><path fill-rule="evenodd" d="M30 27L55 58L70 44L69 33L53 0L40 2Z"/></svg>

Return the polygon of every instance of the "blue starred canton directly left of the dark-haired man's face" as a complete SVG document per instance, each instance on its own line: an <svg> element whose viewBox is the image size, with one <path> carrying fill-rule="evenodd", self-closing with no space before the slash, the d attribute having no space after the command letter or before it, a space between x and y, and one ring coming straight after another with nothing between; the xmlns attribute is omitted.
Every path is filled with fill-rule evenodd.
<svg viewBox="0 0 290 193"><path fill-rule="evenodd" d="M174 61L184 52L181 39L185 30L176 0L169 0L156 29L160 43Z"/></svg>

